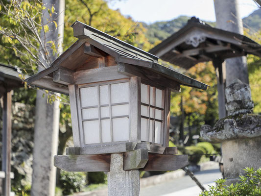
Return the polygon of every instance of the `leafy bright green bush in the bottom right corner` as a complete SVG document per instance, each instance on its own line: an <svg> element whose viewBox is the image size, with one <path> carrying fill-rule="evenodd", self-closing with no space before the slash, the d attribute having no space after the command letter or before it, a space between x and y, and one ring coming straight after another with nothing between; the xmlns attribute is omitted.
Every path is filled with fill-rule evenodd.
<svg viewBox="0 0 261 196"><path fill-rule="evenodd" d="M225 185L226 179L216 180L216 186L211 186L209 191L204 191L200 196L261 196L261 168L244 169L246 175L240 175L240 183L230 186Z"/></svg>

